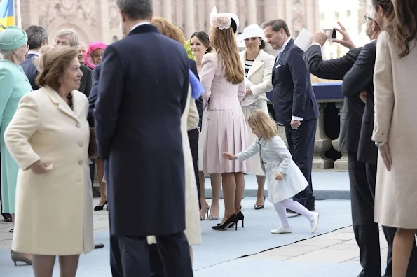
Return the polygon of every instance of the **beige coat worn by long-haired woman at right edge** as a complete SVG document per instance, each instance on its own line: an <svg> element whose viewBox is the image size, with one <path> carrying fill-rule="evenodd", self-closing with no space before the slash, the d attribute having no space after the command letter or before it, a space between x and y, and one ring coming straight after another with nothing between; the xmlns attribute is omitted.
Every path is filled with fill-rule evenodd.
<svg viewBox="0 0 417 277"><path fill-rule="evenodd" d="M376 43L375 122L372 140L386 142L392 168L378 155L375 221L384 226L417 229L417 47L399 59L382 32Z"/></svg>

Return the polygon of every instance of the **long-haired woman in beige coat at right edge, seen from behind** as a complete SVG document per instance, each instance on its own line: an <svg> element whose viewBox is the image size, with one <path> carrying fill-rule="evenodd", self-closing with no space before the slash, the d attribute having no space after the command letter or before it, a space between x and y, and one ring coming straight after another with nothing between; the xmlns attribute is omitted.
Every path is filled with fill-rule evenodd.
<svg viewBox="0 0 417 277"><path fill-rule="evenodd" d="M392 246L392 276L404 277L409 262L416 262L409 259L417 229L417 2L392 3L395 20L376 43L375 221L398 228Z"/></svg>

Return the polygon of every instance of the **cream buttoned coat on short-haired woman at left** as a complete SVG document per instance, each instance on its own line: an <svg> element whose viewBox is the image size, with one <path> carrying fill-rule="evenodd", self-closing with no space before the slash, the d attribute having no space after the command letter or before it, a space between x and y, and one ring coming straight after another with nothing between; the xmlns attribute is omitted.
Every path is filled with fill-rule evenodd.
<svg viewBox="0 0 417 277"><path fill-rule="evenodd" d="M88 167L88 99L74 90L74 111L51 88L22 97L4 140L20 166L12 249L39 255L88 253L93 204ZM39 159L50 171L35 175Z"/></svg>

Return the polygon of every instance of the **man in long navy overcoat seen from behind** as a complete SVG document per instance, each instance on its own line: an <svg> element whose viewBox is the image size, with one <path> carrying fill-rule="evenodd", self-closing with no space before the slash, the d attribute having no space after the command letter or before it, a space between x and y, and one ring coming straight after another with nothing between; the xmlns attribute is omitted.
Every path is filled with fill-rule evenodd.
<svg viewBox="0 0 417 277"><path fill-rule="evenodd" d="M181 134L188 57L183 45L149 24L151 0L116 5L128 36L104 51L93 112L106 164L111 270L151 276L146 236L155 235L165 276L193 276Z"/></svg>

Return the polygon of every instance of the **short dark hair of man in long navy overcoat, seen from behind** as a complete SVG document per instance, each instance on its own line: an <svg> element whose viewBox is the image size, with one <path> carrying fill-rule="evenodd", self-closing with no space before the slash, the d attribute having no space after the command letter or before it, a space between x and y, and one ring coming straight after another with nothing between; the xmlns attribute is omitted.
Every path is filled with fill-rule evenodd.
<svg viewBox="0 0 417 277"><path fill-rule="evenodd" d="M129 20L146 20L152 16L152 0L116 0L116 6Z"/></svg>

